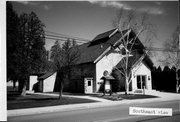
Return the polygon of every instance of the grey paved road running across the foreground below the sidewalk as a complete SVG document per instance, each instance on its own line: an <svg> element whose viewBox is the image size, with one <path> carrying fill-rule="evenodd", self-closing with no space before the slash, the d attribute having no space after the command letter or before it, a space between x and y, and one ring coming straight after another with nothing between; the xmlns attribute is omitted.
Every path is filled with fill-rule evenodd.
<svg viewBox="0 0 180 122"><path fill-rule="evenodd" d="M172 117L166 116L132 116L129 107L172 108ZM180 121L180 101L163 101L140 104L122 104L69 112L52 112L46 114L8 117L8 122L154 122Z"/></svg>

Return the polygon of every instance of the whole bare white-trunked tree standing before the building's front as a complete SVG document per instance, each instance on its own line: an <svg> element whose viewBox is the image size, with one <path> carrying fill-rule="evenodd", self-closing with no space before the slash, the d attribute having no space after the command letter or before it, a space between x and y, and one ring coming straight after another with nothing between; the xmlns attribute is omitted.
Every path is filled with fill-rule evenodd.
<svg viewBox="0 0 180 122"><path fill-rule="evenodd" d="M149 21L149 15L147 14L147 12L139 15L135 10L131 10L131 11L120 10L119 12L117 12L116 18L113 20L113 25L118 27L119 32L122 35L121 44L123 44L123 47L118 46L118 49L122 50L121 48L123 48L125 50L125 58L122 59L123 63L121 64L121 67L123 69L124 72L123 74L126 79L125 87L127 93L129 91L129 84L131 83L131 75L132 75L130 72L132 68L128 66L129 57L131 56L130 54L134 52L133 47L136 43L136 40L138 37L140 37L140 35L143 35L145 33L147 35L146 41L149 42L150 43L149 46L151 46L152 44L150 41L152 41L152 38L154 38L153 34L155 33L154 32L155 29L153 27L153 24L151 24L151 22ZM124 29L128 29L126 35L124 35L122 31ZM135 32L136 34L135 37L133 38L130 38L131 30L133 30L133 32ZM150 35L150 33L152 34ZM120 53L122 54L122 51L120 51Z"/></svg>

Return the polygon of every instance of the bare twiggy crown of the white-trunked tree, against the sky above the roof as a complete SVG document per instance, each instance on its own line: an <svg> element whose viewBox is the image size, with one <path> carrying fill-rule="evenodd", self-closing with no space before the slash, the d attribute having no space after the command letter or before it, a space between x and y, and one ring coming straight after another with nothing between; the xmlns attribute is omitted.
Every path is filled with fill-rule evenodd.
<svg viewBox="0 0 180 122"><path fill-rule="evenodd" d="M156 26L152 24L148 11L138 13L136 10L120 9L116 12L115 18L112 20L112 25L120 30L131 28L138 37L143 38L143 44L146 47L152 46L152 39L156 38Z"/></svg>

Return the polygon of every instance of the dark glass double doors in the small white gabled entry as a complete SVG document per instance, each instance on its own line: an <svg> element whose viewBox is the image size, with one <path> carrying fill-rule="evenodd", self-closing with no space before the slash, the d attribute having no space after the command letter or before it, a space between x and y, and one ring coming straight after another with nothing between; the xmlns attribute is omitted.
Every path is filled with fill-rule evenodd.
<svg viewBox="0 0 180 122"><path fill-rule="evenodd" d="M137 75L137 88L146 88L146 75Z"/></svg>

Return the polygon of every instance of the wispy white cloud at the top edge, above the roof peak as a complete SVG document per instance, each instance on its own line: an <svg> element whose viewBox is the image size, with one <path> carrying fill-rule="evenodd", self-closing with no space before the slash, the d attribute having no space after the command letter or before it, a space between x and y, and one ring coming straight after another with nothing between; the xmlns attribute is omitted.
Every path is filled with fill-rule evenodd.
<svg viewBox="0 0 180 122"><path fill-rule="evenodd" d="M117 1L89 1L92 4L99 4L102 7L113 7L113 8L122 8L125 10L131 10L130 6L127 4L117 2Z"/></svg>

